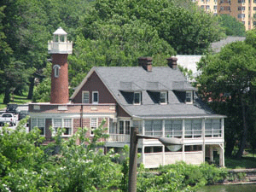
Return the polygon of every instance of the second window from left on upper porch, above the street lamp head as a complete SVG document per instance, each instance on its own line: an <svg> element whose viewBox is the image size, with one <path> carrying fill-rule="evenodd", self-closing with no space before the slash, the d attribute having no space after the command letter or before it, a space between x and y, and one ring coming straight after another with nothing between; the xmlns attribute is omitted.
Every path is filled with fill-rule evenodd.
<svg viewBox="0 0 256 192"><path fill-rule="evenodd" d="M165 121L165 137L179 137L181 138L182 120L166 120Z"/></svg>

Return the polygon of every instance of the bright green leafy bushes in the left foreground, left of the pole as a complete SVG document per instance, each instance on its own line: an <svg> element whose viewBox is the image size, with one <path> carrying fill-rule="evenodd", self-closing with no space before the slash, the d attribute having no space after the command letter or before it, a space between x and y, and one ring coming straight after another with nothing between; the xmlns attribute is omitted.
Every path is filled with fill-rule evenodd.
<svg viewBox="0 0 256 192"><path fill-rule="evenodd" d="M109 191L119 187L121 167L112 162L112 151L103 154L98 141L108 137L104 122L91 140L85 137L86 128L79 128L67 140L59 129L55 143L38 147L43 137L36 128L26 133L26 120L15 131L7 127L1 131L1 191Z"/></svg>

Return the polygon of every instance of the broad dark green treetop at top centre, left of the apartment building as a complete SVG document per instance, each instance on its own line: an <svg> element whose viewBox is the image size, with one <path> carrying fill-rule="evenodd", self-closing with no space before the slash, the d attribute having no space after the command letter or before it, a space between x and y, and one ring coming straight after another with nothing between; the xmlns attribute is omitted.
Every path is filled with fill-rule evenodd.
<svg viewBox="0 0 256 192"><path fill-rule="evenodd" d="M189 1L120 1L98 0L93 9L84 15L81 30L85 38L93 38L93 24L102 20L108 24L119 18L119 26L130 20L141 20L153 26L178 54L201 54L209 44L217 41L222 31L217 17L207 14Z"/></svg>

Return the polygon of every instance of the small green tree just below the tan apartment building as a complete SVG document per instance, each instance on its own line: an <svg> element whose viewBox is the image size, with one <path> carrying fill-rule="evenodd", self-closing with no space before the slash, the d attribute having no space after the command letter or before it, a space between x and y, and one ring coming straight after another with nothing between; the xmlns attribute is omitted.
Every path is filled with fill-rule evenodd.
<svg viewBox="0 0 256 192"><path fill-rule="evenodd" d="M246 36L245 26L241 21L236 20L235 17L223 14L219 15L218 21L220 26L224 27L227 36Z"/></svg>

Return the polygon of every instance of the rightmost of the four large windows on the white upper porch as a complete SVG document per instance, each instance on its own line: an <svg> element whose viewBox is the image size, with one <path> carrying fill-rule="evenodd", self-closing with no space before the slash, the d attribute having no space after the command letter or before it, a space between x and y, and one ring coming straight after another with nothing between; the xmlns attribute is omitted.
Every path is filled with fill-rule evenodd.
<svg viewBox="0 0 256 192"><path fill-rule="evenodd" d="M205 121L205 137L221 137L221 119Z"/></svg>

